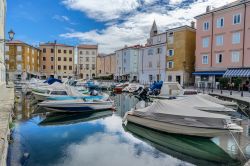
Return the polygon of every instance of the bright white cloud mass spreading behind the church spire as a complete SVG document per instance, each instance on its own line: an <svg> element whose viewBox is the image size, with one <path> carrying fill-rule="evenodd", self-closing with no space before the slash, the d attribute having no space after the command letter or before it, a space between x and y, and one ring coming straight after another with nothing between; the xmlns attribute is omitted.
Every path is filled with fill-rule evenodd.
<svg viewBox="0 0 250 166"><path fill-rule="evenodd" d="M156 20L160 31L176 26L190 25L195 16L205 12L208 5L219 7L232 1L234 0L198 0L189 6L182 7L180 4L182 0L170 0L174 7L172 10L167 10L167 5L157 4L153 0L144 0L143 2L149 5L145 6L144 10L138 11L136 8L140 3L136 0L129 0L127 5L123 4L123 0L116 0L116 5L112 5L114 3L112 0L93 0L91 3L85 3L85 0L64 0L64 4L72 9L85 12L96 20L106 20L107 28L66 33L60 36L77 38L83 43L97 43L100 48L99 52L110 53L124 45L144 44L149 36L153 20ZM124 16L124 11L128 12L129 15ZM97 16L99 17L97 18ZM123 21L113 21L118 18Z"/></svg>

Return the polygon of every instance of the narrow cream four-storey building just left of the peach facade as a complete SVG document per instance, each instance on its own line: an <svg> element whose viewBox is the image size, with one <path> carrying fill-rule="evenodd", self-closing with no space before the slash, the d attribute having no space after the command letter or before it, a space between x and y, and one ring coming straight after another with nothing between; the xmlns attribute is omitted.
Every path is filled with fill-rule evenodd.
<svg viewBox="0 0 250 166"><path fill-rule="evenodd" d="M96 58L98 45L78 45L78 77L88 80L96 77Z"/></svg>

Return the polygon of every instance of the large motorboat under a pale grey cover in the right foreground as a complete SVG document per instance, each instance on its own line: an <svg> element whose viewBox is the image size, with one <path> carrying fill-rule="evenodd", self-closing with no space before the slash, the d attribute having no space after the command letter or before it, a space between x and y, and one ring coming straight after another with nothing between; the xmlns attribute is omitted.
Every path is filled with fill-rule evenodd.
<svg viewBox="0 0 250 166"><path fill-rule="evenodd" d="M173 100L157 100L146 108L133 109L123 119L151 129L167 133L215 137L230 132L242 132L243 128L232 123L231 117L200 111L185 103Z"/></svg>

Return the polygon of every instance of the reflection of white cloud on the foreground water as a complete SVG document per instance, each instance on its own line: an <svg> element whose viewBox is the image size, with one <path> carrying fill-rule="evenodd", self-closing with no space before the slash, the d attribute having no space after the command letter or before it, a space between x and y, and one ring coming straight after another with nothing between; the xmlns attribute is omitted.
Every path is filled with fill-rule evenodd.
<svg viewBox="0 0 250 166"><path fill-rule="evenodd" d="M156 151L146 144L121 141L119 136L105 133L97 133L79 144L70 145L66 149L66 156L56 165L192 165Z"/></svg>

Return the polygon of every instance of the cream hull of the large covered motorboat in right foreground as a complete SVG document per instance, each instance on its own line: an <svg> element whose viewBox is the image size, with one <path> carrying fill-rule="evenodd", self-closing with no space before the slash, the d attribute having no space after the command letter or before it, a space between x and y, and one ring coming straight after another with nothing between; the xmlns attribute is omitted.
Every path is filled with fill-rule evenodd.
<svg viewBox="0 0 250 166"><path fill-rule="evenodd" d="M190 135L190 136L212 138L219 135L224 135L229 132L227 129L202 128L202 127L192 127L184 125L182 126L172 123L151 120L147 118L141 118L130 114L127 114L125 119L128 122L132 122L154 130L159 130L162 132L174 133L174 134Z"/></svg>

